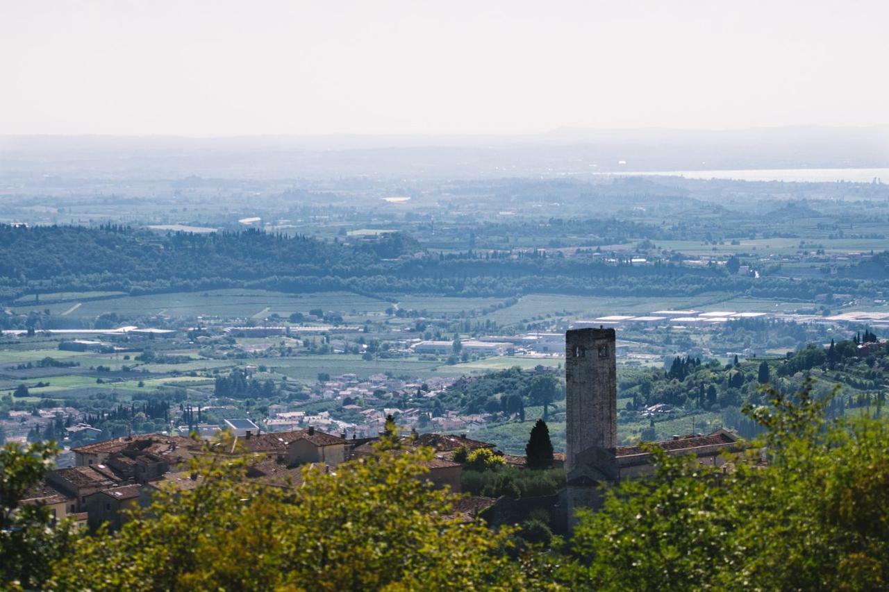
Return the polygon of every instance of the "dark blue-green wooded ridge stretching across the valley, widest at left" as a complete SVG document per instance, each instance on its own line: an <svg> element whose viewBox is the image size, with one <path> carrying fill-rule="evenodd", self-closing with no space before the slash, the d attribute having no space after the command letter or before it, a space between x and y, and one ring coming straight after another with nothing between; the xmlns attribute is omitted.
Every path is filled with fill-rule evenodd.
<svg viewBox="0 0 889 592"><path fill-rule="evenodd" d="M880 260L880 259L877 259ZM243 287L283 292L348 290L510 297L525 293L607 296L733 292L810 300L817 294L889 290L886 275L795 279L730 275L724 266L634 264L597 252L427 252L388 233L354 244L256 229L169 233L106 225L0 226L0 298L26 293L121 291L133 295Z"/></svg>

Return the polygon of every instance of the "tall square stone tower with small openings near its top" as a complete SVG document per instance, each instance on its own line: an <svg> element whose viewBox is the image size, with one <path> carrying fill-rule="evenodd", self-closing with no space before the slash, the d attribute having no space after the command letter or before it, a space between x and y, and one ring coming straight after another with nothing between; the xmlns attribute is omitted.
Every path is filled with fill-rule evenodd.
<svg viewBox="0 0 889 592"><path fill-rule="evenodd" d="M617 446L617 363L613 329L565 334L565 470L589 448Z"/></svg>

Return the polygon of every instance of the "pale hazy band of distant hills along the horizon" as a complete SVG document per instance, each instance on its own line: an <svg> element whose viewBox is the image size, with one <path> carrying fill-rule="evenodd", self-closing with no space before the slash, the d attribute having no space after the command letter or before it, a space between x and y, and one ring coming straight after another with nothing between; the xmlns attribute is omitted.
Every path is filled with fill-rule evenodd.
<svg viewBox="0 0 889 592"><path fill-rule="evenodd" d="M889 126L536 135L0 136L0 178L501 178L889 167Z"/></svg>

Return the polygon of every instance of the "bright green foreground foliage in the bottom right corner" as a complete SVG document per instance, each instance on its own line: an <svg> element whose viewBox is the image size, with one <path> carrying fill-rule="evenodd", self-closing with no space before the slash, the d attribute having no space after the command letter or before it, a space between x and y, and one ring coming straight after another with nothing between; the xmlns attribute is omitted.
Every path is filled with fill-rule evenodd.
<svg viewBox="0 0 889 592"><path fill-rule="evenodd" d="M648 446L657 475L585 511L563 569L579 588L884 589L889 584L889 426L825 420L811 384L747 412L767 428L733 470Z"/></svg>

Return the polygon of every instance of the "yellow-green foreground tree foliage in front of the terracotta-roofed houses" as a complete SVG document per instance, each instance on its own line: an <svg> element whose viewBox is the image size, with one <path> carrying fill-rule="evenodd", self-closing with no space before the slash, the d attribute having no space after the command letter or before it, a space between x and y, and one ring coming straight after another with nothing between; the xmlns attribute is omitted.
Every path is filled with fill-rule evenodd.
<svg viewBox="0 0 889 592"><path fill-rule="evenodd" d="M298 488L253 484L245 460L196 460L121 532L78 540L52 587L92 590L522 589L509 529L460 524L424 477L427 450L380 451Z"/></svg>

